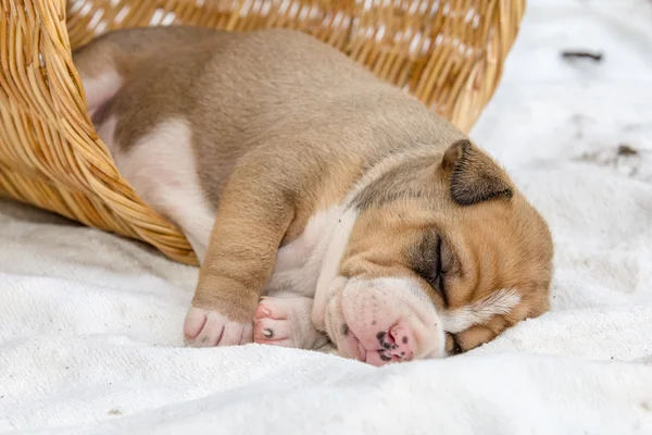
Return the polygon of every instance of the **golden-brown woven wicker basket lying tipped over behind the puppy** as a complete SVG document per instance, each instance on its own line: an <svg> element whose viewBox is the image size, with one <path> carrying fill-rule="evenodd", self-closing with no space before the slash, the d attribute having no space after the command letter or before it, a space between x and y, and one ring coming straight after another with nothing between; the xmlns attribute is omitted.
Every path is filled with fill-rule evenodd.
<svg viewBox="0 0 652 435"><path fill-rule="evenodd" d="M112 28L290 27L337 47L468 130L525 0L0 0L0 195L196 263L121 177L86 113L71 49Z"/></svg>

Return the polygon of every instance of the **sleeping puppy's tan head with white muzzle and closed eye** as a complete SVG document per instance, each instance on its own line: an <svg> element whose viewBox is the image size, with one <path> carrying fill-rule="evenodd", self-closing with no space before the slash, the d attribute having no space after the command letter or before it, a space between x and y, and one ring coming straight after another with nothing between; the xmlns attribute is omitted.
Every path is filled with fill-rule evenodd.
<svg viewBox="0 0 652 435"><path fill-rule="evenodd" d="M549 309L543 219L467 140L362 188L324 312L340 355L372 364L473 349Z"/></svg>

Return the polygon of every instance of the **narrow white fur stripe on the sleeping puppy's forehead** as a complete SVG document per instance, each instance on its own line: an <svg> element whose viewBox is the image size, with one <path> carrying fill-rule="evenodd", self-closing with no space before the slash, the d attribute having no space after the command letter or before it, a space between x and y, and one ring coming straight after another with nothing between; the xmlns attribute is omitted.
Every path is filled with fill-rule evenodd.
<svg viewBox="0 0 652 435"><path fill-rule="evenodd" d="M521 295L513 288L494 291L482 300L448 311L441 318L443 328L460 333L473 325L482 324L497 314L507 314L521 302Z"/></svg>

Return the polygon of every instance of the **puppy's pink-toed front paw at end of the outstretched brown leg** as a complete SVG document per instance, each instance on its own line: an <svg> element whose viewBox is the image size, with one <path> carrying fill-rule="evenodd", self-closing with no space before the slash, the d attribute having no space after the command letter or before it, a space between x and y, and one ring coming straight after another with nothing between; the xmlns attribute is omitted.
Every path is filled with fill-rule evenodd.
<svg viewBox="0 0 652 435"><path fill-rule="evenodd" d="M252 339L251 323L229 320L217 311L192 307L184 323L186 345L195 347L246 345Z"/></svg>

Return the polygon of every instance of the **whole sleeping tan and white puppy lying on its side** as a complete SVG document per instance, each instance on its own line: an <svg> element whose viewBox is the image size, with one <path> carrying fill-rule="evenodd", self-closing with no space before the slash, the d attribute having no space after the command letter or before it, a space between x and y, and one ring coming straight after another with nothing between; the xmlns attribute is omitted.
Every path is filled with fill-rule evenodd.
<svg viewBox="0 0 652 435"><path fill-rule="evenodd" d="M549 309L551 236L448 121L289 30L120 30L74 53L99 137L200 260L186 343L375 365Z"/></svg>

